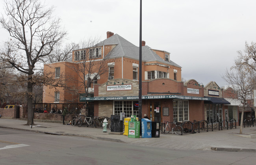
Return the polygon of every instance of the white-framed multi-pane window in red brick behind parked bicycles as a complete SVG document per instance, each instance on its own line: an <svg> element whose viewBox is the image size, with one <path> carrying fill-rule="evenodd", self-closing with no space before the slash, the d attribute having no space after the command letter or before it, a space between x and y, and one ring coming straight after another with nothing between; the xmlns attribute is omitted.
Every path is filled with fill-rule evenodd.
<svg viewBox="0 0 256 165"><path fill-rule="evenodd" d="M173 100L173 121L188 120L188 101L187 100Z"/></svg>

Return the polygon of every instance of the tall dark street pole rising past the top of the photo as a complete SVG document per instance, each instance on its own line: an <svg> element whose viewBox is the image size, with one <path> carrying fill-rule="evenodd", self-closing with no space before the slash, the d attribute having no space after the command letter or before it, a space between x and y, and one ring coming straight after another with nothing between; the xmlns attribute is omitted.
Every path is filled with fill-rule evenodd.
<svg viewBox="0 0 256 165"><path fill-rule="evenodd" d="M140 0L140 12L139 12L139 121L141 123L141 117L142 117L142 85L141 85L141 65L142 65L142 37L141 37L141 18L142 18L142 0ZM141 135L141 128L140 133Z"/></svg>

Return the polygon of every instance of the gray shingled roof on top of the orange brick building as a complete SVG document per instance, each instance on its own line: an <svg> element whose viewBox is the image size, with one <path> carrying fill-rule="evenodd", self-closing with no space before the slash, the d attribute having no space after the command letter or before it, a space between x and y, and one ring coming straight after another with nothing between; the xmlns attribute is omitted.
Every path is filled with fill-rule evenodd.
<svg viewBox="0 0 256 165"><path fill-rule="evenodd" d="M96 44L95 46L102 46L102 45L115 45L115 48L111 51L109 58L117 58L117 57L128 57L139 60L139 47L135 46L134 44L130 43L126 39L122 38L118 34L115 34L106 40ZM158 56L154 51L150 49L150 47L143 46L142 47L142 60L144 62L162 62L168 65L173 65L176 67L180 67L180 65L170 61L165 61L163 58Z"/></svg>

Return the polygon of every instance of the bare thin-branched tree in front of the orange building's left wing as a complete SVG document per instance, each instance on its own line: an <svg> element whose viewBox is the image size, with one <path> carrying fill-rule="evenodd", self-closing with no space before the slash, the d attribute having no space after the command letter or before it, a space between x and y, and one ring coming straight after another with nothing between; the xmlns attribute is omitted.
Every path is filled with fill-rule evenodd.
<svg viewBox="0 0 256 165"><path fill-rule="evenodd" d="M89 40L80 42L80 49L74 51L75 63L69 65L69 68L76 73L76 75L68 75L67 80L74 82L72 87L68 87L69 91L73 94L84 94L83 97L88 97L93 93L93 85L97 83L101 76L108 76L108 55L103 55L101 47L97 47L97 38L90 38ZM76 77L78 76L78 77ZM87 102L85 102L87 107Z"/></svg>

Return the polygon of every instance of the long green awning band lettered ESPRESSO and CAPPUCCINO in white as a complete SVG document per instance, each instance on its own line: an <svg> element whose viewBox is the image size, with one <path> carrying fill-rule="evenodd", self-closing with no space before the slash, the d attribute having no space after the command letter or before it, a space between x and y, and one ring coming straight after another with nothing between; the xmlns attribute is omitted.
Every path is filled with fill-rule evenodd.
<svg viewBox="0 0 256 165"><path fill-rule="evenodd" d="M211 100L211 98L193 97L193 96L180 96L180 95L154 95L154 96L142 96L142 99L182 99L182 100ZM139 96L113 96L113 97L81 97L80 101L85 102L87 100L139 100Z"/></svg>

